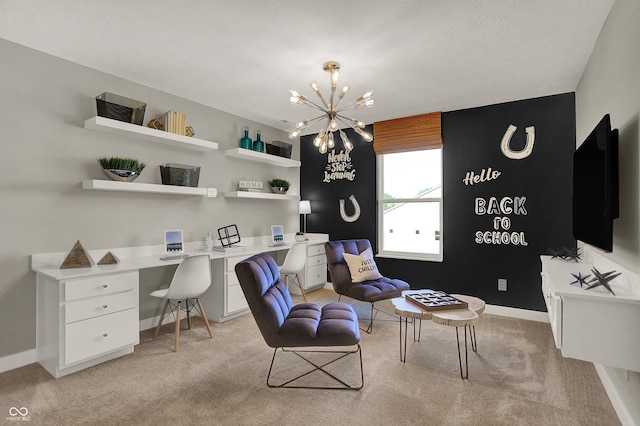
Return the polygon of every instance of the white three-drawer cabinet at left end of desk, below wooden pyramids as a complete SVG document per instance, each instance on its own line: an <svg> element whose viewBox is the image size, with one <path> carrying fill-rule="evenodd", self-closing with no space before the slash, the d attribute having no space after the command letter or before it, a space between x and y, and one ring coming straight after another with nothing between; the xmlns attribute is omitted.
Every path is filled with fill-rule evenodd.
<svg viewBox="0 0 640 426"><path fill-rule="evenodd" d="M138 272L37 277L38 362L54 377L133 352L139 343Z"/></svg>

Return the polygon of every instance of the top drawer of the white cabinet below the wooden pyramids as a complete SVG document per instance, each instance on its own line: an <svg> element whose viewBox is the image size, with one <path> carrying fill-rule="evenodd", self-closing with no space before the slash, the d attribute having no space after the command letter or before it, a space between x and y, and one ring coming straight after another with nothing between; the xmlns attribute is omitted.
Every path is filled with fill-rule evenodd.
<svg viewBox="0 0 640 426"><path fill-rule="evenodd" d="M85 297L102 296L138 288L138 272L103 275L66 281L64 300L78 300Z"/></svg>

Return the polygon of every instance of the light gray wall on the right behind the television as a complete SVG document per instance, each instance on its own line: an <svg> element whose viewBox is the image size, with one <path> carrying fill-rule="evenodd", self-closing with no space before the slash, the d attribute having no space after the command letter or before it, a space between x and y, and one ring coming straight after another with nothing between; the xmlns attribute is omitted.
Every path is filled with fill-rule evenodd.
<svg viewBox="0 0 640 426"><path fill-rule="evenodd" d="M582 142L606 113L618 128L620 218L613 223L607 257L640 270L640 2L617 0L576 90L576 136ZM626 324L639 327L640 324ZM620 398L640 419L640 373L609 369L621 383Z"/></svg>

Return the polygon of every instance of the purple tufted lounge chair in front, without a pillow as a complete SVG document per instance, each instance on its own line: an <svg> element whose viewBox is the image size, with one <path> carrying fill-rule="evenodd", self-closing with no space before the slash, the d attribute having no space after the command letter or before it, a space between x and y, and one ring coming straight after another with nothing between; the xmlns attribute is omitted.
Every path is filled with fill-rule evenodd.
<svg viewBox="0 0 640 426"><path fill-rule="evenodd" d="M335 387L322 386L321 389L362 388L364 375L360 331L358 317L351 306L339 302L328 303L322 307L315 303L293 305L287 286L280 281L278 265L267 253L257 254L239 262L235 270L260 333L267 345L274 348L267 374L267 386L315 388L298 386L295 383L312 372L320 371L337 383ZM295 353L313 368L284 383L272 384L271 370L278 349ZM318 363L302 355L319 352L328 353L333 358ZM350 354L360 356L360 383L355 385L346 383L324 369L325 366Z"/></svg>

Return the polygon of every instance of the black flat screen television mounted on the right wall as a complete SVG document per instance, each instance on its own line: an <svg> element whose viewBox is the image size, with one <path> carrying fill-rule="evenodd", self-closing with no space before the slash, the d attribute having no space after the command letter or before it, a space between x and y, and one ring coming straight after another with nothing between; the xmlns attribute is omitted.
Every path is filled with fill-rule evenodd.
<svg viewBox="0 0 640 426"><path fill-rule="evenodd" d="M618 197L618 129L605 115L573 154L573 236L613 250Z"/></svg>

